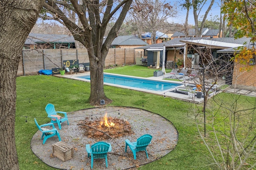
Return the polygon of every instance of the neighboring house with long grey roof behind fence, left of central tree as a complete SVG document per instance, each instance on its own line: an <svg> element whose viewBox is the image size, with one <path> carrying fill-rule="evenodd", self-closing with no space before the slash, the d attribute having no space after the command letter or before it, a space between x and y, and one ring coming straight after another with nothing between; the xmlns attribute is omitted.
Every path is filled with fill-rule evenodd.
<svg viewBox="0 0 256 170"><path fill-rule="evenodd" d="M23 49L74 49L75 40L72 35L30 33Z"/></svg>

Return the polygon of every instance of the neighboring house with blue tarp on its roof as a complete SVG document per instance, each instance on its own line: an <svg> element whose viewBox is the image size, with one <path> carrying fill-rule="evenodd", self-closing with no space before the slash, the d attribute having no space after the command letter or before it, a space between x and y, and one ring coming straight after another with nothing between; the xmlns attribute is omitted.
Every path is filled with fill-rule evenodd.
<svg viewBox="0 0 256 170"><path fill-rule="evenodd" d="M152 44L152 40L151 40L151 33L147 32L147 33L144 33L141 35L141 39L143 41L145 41L146 43L148 43L149 45ZM162 33L160 31L156 31L156 43L163 43L163 42L166 42L166 41L169 41L170 40L170 37L165 34L165 33Z"/></svg>

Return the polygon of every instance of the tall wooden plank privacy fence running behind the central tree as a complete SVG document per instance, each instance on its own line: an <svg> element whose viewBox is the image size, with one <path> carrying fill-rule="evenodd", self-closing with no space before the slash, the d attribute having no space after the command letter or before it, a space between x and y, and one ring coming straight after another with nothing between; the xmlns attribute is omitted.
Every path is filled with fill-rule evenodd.
<svg viewBox="0 0 256 170"><path fill-rule="evenodd" d="M109 49L105 66L115 64L133 64L141 53L135 49ZM63 67L64 60L78 60L90 63L87 49L33 49L22 51L17 76L38 74L39 70L51 70Z"/></svg>

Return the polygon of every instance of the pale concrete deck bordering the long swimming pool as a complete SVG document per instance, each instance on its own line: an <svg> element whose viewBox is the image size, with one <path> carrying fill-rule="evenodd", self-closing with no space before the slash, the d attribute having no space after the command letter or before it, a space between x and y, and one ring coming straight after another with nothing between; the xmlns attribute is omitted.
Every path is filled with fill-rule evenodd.
<svg viewBox="0 0 256 170"><path fill-rule="evenodd" d="M107 74L111 74L111 73L107 73ZM83 73L65 74L63 76L61 76L60 74L55 74L54 76L62 77L62 78L70 78L70 79L74 79L74 80L81 80L81 81L85 81L85 82L90 82L90 80L87 80L87 79L84 79L84 78L79 78L80 76L87 76L87 75L90 75L90 71L83 72ZM121 75L121 74L111 74L111 75ZM121 76L126 76L126 75L121 75ZM164 76L158 76L158 77L152 76L152 77L148 77L148 78L136 77L136 76L126 76L126 77L142 78L142 79L146 79L146 80L156 80L156 81L170 82L170 83L179 83L178 81L163 80ZM180 83L181 83L180 87L184 87L184 80L180 81ZM186 83L190 83L190 82L186 81ZM186 95L186 94L171 92L171 91L174 91L175 88L158 92L158 91L154 91L154 90L147 90L147 89L142 89L142 88L121 86L121 85L117 85L117 84L110 84L110 83L104 83L104 84L109 85L109 86L116 86L116 87L120 87L120 88L127 88L127 89L131 89L131 90L138 90L138 91L141 91L141 92L158 94L158 95L162 95L162 96L165 95L166 97L170 97L170 98L177 99L177 100L182 100L182 101L185 101L185 102L192 102L192 103L196 103L196 104L200 104L200 103L204 102L204 98L196 98L196 97L195 98L189 98L188 95Z"/></svg>

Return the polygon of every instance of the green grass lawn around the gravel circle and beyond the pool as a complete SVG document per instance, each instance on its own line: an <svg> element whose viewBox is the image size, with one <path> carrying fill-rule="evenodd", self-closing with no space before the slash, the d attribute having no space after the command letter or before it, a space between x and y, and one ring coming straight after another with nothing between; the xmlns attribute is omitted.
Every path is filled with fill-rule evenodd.
<svg viewBox="0 0 256 170"><path fill-rule="evenodd" d="M105 72L147 77L152 76L154 70L134 65L108 69ZM30 149L32 136L38 130L34 117L39 124L49 122L44 110L48 103L54 104L59 111L67 112L93 107L88 104L90 83L54 76L22 76L17 78L16 86L15 136L20 169L53 170L55 168L44 164ZM113 86L104 86L104 91L106 96L113 100L109 106L130 106L152 111L171 121L178 131L176 148L163 158L140 167L141 170L216 169L198 135L193 119L194 104ZM220 94L222 100L230 98L225 95ZM253 101L254 98L246 96L244 100ZM196 108L201 110L202 105L196 105ZM206 112L207 121L211 120L211 115L212 113ZM206 131L210 129L207 128ZM208 164L211 165L207 166Z"/></svg>

